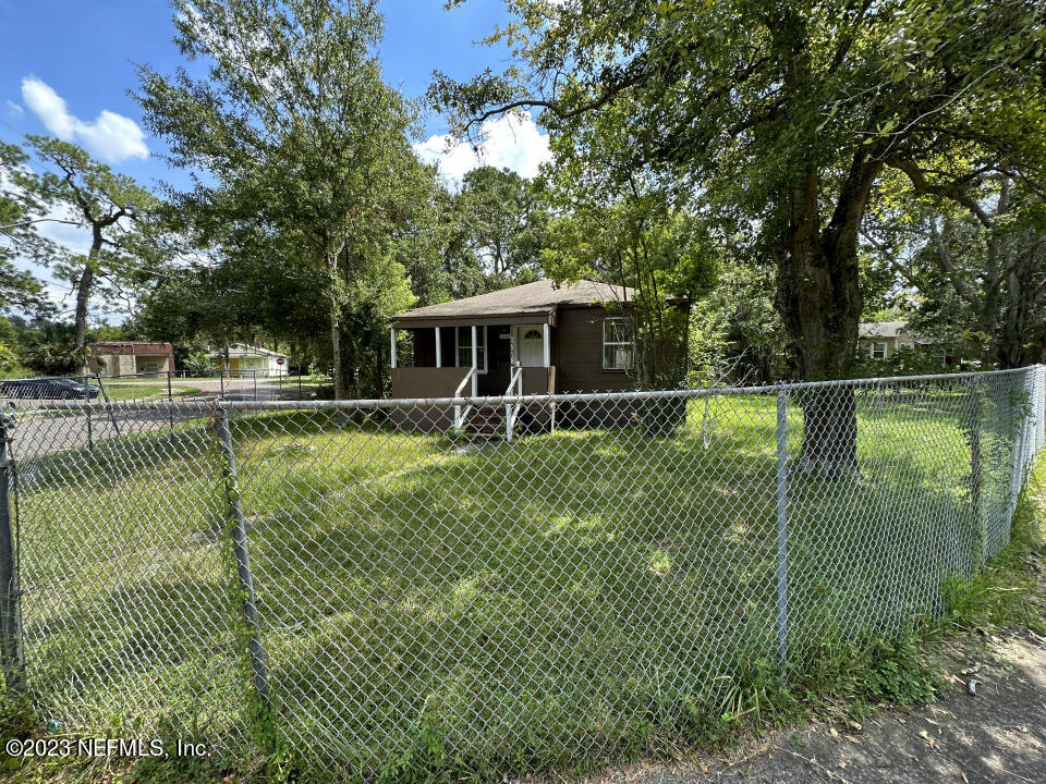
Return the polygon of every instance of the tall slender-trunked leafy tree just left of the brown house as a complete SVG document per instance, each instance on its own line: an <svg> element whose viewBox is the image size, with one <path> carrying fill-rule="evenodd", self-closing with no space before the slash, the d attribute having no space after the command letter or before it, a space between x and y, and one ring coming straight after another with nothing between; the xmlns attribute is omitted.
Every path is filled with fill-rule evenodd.
<svg viewBox="0 0 1046 784"><path fill-rule="evenodd" d="M375 0L177 0L177 42L208 61L206 78L141 70L146 124L197 179L177 204L227 256L268 245L326 274L335 395L356 358L346 320L367 287L382 302L411 293L391 247L408 220L405 194L434 176L406 133L414 111L382 82ZM277 260L279 270L282 265ZM278 274L278 272L276 272ZM345 335L350 334L349 340Z"/></svg>

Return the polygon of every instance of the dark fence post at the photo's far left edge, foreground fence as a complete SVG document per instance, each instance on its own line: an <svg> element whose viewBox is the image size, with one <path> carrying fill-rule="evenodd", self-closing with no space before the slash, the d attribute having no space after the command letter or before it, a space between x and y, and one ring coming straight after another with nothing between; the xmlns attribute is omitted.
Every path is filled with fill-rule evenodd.
<svg viewBox="0 0 1046 784"><path fill-rule="evenodd" d="M14 693L25 685L25 662L22 658L20 622L21 589L16 556L14 515L11 500L14 469L10 443L14 415L0 411L0 664L7 687Z"/></svg>

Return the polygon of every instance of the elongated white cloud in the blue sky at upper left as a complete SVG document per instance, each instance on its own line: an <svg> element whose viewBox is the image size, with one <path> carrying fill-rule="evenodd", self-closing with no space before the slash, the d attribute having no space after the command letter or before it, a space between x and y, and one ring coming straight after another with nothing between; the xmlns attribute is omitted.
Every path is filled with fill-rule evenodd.
<svg viewBox="0 0 1046 784"><path fill-rule="evenodd" d="M110 163L149 157L145 133L130 118L104 109L93 122L84 122L70 114L65 100L35 76L22 79L22 100L52 134L83 145Z"/></svg>

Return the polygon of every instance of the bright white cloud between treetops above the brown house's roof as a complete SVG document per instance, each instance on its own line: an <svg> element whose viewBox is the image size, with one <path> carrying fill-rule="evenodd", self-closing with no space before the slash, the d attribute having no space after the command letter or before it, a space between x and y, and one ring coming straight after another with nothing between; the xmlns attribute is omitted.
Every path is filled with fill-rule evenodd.
<svg viewBox="0 0 1046 784"><path fill-rule="evenodd" d="M414 145L423 160L437 163L453 187L461 186L465 172L482 166L509 168L532 177L538 167L551 160L548 134L543 134L528 114L504 114L483 124L485 142L478 150L465 142L454 143L447 134L430 136Z"/></svg>

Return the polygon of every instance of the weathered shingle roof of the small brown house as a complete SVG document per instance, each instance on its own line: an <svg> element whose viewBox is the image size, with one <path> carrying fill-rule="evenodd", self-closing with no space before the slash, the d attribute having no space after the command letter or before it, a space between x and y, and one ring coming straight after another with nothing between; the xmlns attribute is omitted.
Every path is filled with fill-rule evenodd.
<svg viewBox="0 0 1046 784"><path fill-rule="evenodd" d="M594 305L604 302L630 302L635 292L628 286L611 286L595 281L577 281L557 286L552 281L542 280L534 283L502 289L501 291L479 294L414 308L396 317L398 326L410 326L412 321L434 319L477 318L484 316L527 316L547 315L561 305Z"/></svg>

